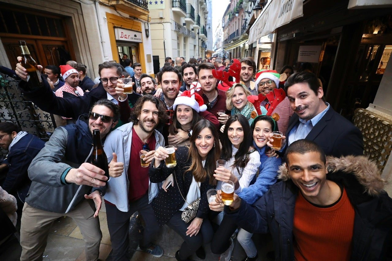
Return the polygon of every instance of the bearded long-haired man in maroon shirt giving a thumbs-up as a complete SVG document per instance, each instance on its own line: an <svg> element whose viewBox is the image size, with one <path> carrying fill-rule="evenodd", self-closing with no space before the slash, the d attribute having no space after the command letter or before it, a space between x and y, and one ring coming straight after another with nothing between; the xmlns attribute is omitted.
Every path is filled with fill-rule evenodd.
<svg viewBox="0 0 392 261"><path fill-rule="evenodd" d="M103 147L108 157L108 188L105 195L107 226L113 248L113 260L129 260L129 220L134 212L143 216L145 228L139 247L154 257L163 250L151 243L159 230L154 211L149 203L158 195L159 185L149 181L149 168L140 164L140 150L150 150L145 161L150 163L155 149L164 146L162 134L154 130L166 118L163 103L146 94L139 98L131 112L130 123L113 130ZM126 259L127 258L127 259Z"/></svg>

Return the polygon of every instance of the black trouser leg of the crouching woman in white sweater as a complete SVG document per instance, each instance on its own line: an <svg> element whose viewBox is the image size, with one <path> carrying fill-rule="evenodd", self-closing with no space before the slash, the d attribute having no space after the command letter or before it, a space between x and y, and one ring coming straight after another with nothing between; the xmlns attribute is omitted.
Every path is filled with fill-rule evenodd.
<svg viewBox="0 0 392 261"><path fill-rule="evenodd" d="M214 234L211 242L211 252L222 254L230 246L230 237L237 229L236 223L226 215L223 216L222 222Z"/></svg>

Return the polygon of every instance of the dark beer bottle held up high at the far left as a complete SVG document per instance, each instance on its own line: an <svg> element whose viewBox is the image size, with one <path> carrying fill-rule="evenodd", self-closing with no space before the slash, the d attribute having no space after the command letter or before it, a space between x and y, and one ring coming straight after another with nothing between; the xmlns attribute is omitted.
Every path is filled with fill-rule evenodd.
<svg viewBox="0 0 392 261"><path fill-rule="evenodd" d="M42 78L40 71L38 70L38 64L31 57L29 48L27 48L25 41L19 41L20 50L22 51L22 66L26 68L27 82L31 88L42 87Z"/></svg>

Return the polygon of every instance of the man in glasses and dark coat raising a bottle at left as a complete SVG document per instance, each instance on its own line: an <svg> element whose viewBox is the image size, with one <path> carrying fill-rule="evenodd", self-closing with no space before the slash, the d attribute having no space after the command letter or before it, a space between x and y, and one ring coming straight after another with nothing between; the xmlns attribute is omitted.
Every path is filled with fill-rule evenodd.
<svg viewBox="0 0 392 261"><path fill-rule="evenodd" d="M21 60L22 57L19 56L18 61ZM42 66L38 65L38 68L42 69ZM75 98L61 98L54 95L49 83L47 83L45 74L41 75L43 77L42 87L29 86L26 69L20 63L16 64L16 74L22 79L18 85L25 96L43 111L73 119L77 119L81 114L89 113L89 109L98 100L108 99L118 104L118 98L122 92L116 91L116 86L118 79L123 77L121 66L113 62L104 62L100 64L98 73L100 75L100 84L91 92L86 92L83 96ZM132 104L136 103L138 97L140 95L136 93L128 94L129 102ZM124 106L124 108L127 107L129 106ZM121 111L120 113L125 118L129 117L129 110Z"/></svg>

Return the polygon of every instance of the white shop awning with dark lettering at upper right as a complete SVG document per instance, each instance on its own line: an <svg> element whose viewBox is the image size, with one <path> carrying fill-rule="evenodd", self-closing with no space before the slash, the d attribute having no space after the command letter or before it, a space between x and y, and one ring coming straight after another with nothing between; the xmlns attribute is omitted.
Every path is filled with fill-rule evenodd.
<svg viewBox="0 0 392 261"><path fill-rule="evenodd" d="M303 0L271 0L249 31L249 43L274 33L275 29L303 16Z"/></svg>

